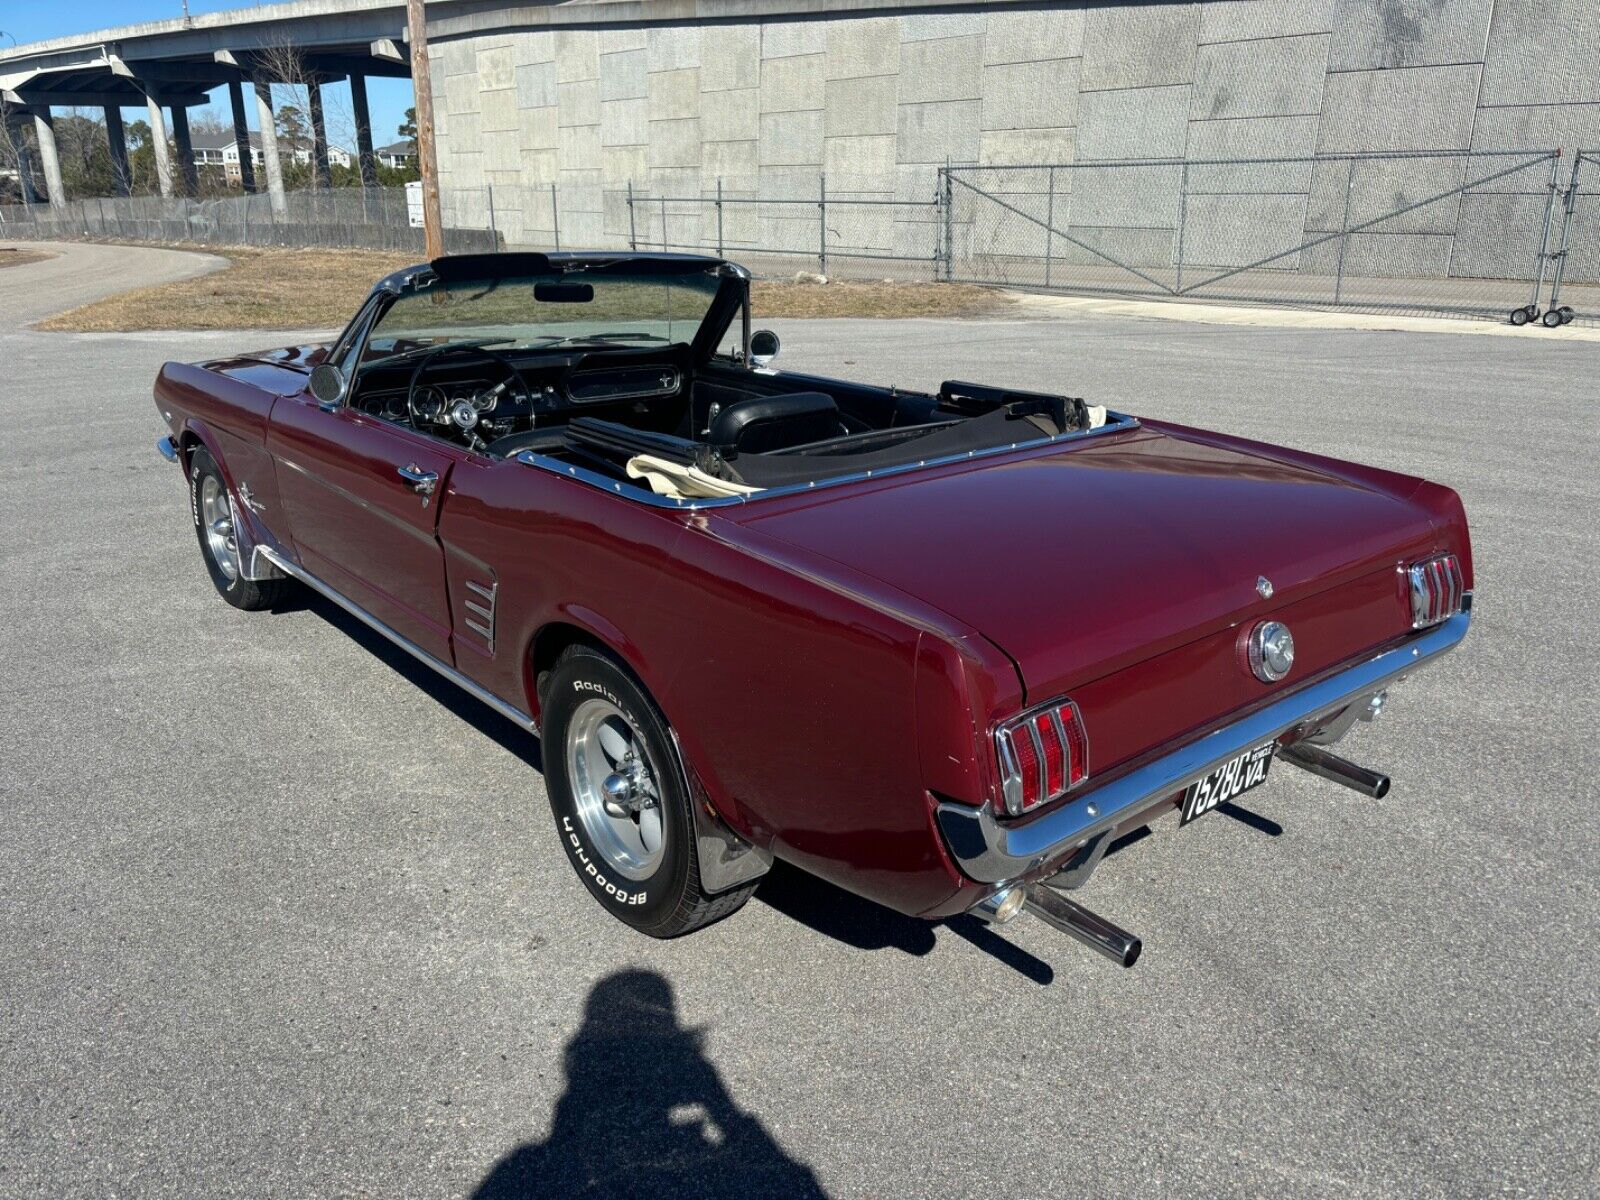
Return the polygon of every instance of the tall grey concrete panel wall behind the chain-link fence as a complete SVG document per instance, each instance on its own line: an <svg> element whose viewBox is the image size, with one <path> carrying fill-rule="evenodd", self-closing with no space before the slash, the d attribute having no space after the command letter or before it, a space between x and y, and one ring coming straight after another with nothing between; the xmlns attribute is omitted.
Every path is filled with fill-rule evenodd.
<svg viewBox="0 0 1600 1200"><path fill-rule="evenodd" d="M957 230L974 253L1115 246L1240 266L1486 174L1466 157L1312 163L1312 155L1600 146L1595 0L1200 0L949 3L653 0L480 6L430 21L446 189L494 186L512 243L715 242L696 197L918 206L829 210L835 253L926 258L944 163L1058 165L984 176L1005 206ZM1181 168L1110 168L1144 158ZM1206 160L1301 158L1301 162ZM1074 166L1075 163L1096 166ZM1349 261L1395 274L1493 274L1536 240L1547 166L1365 230ZM1027 214L1027 216L1022 216ZM1029 218L1034 218L1032 221ZM1531 230L1531 232L1530 232ZM723 240L811 253L806 205L728 205ZM1520 243L1518 243L1520 245ZM1533 246L1528 246L1531 256ZM1030 251L1029 251L1030 253ZM1093 259L1093 254L1086 254ZM1326 246L1277 269L1322 270Z"/></svg>

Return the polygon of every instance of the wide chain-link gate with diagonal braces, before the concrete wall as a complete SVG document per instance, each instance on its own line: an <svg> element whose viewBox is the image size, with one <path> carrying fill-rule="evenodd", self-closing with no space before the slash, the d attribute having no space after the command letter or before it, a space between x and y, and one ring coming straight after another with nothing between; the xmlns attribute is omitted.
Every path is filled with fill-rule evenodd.
<svg viewBox="0 0 1600 1200"><path fill-rule="evenodd" d="M1538 315L1558 150L950 166L946 278L1078 294Z"/></svg>

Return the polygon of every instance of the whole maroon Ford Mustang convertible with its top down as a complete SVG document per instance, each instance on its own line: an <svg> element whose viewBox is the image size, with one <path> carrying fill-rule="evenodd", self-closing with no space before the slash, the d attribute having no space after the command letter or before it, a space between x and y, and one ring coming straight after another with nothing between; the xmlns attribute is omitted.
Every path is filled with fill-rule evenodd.
<svg viewBox="0 0 1600 1200"><path fill-rule="evenodd" d="M1330 750L1467 630L1448 488L1070 395L770 366L749 274L443 258L330 346L168 363L222 597L309 587L542 738L584 886L672 936L774 858L1034 912L1118 837ZM1066 390L1070 390L1069 381Z"/></svg>

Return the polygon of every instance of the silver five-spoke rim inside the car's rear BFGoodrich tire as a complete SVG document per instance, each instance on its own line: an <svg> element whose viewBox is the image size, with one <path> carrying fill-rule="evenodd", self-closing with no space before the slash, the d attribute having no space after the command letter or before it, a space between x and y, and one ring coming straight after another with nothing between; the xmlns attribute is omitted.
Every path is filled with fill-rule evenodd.
<svg viewBox="0 0 1600 1200"><path fill-rule="evenodd" d="M566 726L566 778L578 819L610 870L643 880L661 862L661 774L638 730L610 701L590 696Z"/></svg>

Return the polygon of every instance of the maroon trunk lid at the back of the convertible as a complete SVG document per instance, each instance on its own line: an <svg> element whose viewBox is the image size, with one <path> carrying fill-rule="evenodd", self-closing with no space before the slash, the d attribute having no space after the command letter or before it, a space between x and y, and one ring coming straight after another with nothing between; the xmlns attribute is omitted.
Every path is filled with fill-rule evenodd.
<svg viewBox="0 0 1600 1200"><path fill-rule="evenodd" d="M1147 424L733 518L976 629L1037 699L1427 549L1416 485Z"/></svg>

